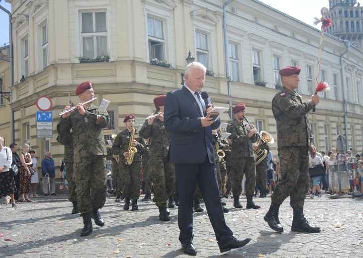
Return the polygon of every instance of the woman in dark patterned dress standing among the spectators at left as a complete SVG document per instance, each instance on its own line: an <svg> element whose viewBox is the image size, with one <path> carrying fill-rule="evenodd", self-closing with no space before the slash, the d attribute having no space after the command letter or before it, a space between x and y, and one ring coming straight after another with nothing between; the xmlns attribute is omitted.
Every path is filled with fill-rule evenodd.
<svg viewBox="0 0 363 258"><path fill-rule="evenodd" d="M20 162L21 167L19 169L20 173L20 188L19 188L19 202L32 202L31 199L29 199L29 194L31 192L31 173L30 173L30 167L33 164L31 161L30 153L28 152L30 149L29 144L24 143L20 147Z"/></svg>

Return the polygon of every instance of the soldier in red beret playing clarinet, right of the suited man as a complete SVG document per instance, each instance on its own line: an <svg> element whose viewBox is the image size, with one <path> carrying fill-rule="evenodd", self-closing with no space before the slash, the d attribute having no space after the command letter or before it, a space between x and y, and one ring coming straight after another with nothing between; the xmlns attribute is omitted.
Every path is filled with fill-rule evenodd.
<svg viewBox="0 0 363 258"><path fill-rule="evenodd" d="M232 179L233 206L242 208L240 195L242 193L242 179L246 176L246 197L248 209L259 209L252 197L256 186L256 158L252 144L257 141L257 129L251 128L245 120L246 105L237 104L233 108L234 119L229 122L227 132L231 133L229 138L231 145L231 172Z"/></svg>

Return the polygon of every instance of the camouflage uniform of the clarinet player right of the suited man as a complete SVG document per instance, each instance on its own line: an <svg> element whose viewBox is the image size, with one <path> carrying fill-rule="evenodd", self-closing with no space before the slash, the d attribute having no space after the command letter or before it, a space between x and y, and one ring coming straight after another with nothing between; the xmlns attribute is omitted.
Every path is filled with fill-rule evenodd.
<svg viewBox="0 0 363 258"><path fill-rule="evenodd" d="M227 126L227 132L231 133L229 138L232 140L231 161L232 161L232 193L239 196L242 193L243 174L246 176L246 195L253 195L256 186L256 160L253 152L252 143L257 141L256 134L248 136L249 125L237 119L233 119Z"/></svg>

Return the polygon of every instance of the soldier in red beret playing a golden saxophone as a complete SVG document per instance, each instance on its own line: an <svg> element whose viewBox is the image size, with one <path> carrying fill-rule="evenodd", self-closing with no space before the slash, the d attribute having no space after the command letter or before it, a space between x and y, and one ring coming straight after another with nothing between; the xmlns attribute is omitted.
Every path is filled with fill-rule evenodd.
<svg viewBox="0 0 363 258"><path fill-rule="evenodd" d="M125 196L124 210L138 210L137 200L140 197L139 181L141 172L141 154L146 150L146 141L135 130L135 116L126 115L123 122L126 129L117 133L112 144L112 151L120 155L119 174L121 176L122 194ZM132 148L132 149L131 149ZM136 150L136 152L134 152ZM130 155L133 155L131 158ZM119 187L117 186L117 189ZM120 190L118 190L120 192Z"/></svg>

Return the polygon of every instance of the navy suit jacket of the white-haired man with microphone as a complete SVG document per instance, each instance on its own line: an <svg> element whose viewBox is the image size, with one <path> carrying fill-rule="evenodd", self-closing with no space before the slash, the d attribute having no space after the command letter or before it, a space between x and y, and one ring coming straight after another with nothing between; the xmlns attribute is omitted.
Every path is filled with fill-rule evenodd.
<svg viewBox="0 0 363 258"><path fill-rule="evenodd" d="M210 98L209 102L212 103ZM202 128L201 117L196 99L185 86L168 92L164 125L172 133L168 155L170 163L202 163L207 155L209 162L215 163L212 129L219 127L220 120Z"/></svg>

